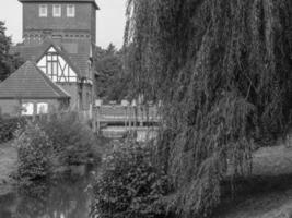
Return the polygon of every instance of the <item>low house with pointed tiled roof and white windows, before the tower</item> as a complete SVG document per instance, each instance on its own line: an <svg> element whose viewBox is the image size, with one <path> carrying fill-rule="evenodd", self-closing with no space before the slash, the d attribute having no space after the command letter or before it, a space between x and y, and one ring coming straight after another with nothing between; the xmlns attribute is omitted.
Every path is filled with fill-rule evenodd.
<svg viewBox="0 0 292 218"><path fill-rule="evenodd" d="M70 94L27 61L0 83L2 114L34 116L68 110Z"/></svg>

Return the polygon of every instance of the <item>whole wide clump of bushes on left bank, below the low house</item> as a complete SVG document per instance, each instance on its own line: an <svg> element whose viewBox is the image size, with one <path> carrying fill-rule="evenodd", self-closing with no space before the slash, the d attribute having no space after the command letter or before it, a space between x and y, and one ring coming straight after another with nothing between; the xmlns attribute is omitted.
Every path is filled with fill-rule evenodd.
<svg viewBox="0 0 292 218"><path fill-rule="evenodd" d="M30 122L14 144L19 149L17 178L24 182L56 177L72 165L101 161L93 132L75 113Z"/></svg>

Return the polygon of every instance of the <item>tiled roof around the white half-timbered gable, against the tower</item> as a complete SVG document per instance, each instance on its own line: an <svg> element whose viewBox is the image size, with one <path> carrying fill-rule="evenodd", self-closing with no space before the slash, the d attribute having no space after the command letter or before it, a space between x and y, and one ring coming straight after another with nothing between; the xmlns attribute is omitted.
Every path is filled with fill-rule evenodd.
<svg viewBox="0 0 292 218"><path fill-rule="evenodd" d="M69 53L65 46L56 45L51 39L46 39L39 45L19 45L10 49L11 53L19 53L24 61L38 62L50 47L54 47L57 52L68 62L68 64L75 71L80 78L87 76L90 59L90 43L79 40L77 43L77 52Z"/></svg>

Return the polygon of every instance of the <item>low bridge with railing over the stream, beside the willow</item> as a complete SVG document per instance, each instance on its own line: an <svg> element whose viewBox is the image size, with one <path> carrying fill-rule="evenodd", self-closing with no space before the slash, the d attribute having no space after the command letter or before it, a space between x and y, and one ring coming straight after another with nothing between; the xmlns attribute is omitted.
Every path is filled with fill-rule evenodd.
<svg viewBox="0 0 292 218"><path fill-rule="evenodd" d="M102 105L94 108L93 129L110 138L136 132L138 138L154 135L160 123L159 109L152 106Z"/></svg>

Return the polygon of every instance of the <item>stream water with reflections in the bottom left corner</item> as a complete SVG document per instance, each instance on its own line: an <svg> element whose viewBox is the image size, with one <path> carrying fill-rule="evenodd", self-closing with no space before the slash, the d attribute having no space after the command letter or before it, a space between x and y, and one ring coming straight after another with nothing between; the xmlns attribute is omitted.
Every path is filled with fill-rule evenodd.
<svg viewBox="0 0 292 218"><path fill-rule="evenodd" d="M38 183L0 197L0 218L89 218L89 180Z"/></svg>

